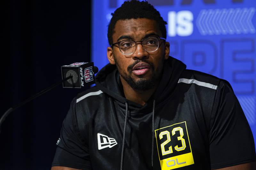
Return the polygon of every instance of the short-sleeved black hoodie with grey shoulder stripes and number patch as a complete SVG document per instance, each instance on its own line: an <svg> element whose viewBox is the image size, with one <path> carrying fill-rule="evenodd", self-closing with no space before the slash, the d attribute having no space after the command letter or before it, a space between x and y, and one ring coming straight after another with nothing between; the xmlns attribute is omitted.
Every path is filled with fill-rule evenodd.
<svg viewBox="0 0 256 170"><path fill-rule="evenodd" d="M72 101L52 166L200 170L255 159L251 129L225 80L169 57L142 106L124 97L115 65Z"/></svg>

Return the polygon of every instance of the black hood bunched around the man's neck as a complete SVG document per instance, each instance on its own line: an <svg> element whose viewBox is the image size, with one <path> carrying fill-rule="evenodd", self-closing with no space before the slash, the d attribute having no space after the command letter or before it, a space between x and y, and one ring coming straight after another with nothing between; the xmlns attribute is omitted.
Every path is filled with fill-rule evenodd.
<svg viewBox="0 0 256 170"><path fill-rule="evenodd" d="M164 61L162 78L156 92L153 94L153 96L151 96L150 101L153 102L153 99L155 99L157 105L158 103L166 100L166 98L168 98L173 92L181 73L185 69L186 65L184 63L169 56L169 58ZM131 110L141 110L147 108L148 106L152 107L152 103L149 104L147 102L144 106L141 106L140 104L127 100L124 97L123 86L116 65L108 63L105 67L103 67L97 74L95 83L102 92L105 92L113 97L118 101L118 103L120 102L121 105L124 105L123 107L125 107L125 102L128 103L129 109Z"/></svg>

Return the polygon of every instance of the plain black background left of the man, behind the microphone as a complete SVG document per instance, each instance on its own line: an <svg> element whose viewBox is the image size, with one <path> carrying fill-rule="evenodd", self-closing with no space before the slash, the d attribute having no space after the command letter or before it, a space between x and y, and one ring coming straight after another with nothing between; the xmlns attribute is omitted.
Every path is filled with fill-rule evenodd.
<svg viewBox="0 0 256 170"><path fill-rule="evenodd" d="M2 116L60 81L60 66L90 61L91 1L4 0L0 6ZM11 113L1 127L0 170L50 169L70 101L83 90L59 85Z"/></svg>

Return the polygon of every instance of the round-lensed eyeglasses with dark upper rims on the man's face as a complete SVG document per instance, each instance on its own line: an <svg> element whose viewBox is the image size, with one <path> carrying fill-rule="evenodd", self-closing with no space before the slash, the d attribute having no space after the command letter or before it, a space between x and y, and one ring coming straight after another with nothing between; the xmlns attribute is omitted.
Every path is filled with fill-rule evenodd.
<svg viewBox="0 0 256 170"><path fill-rule="evenodd" d="M147 37L142 39L141 41L133 41L133 40L122 40L118 41L114 44L111 44L111 47L118 44L119 50L124 55L131 55L135 52L137 48L137 43L141 42L143 49L149 53L155 52L159 48L159 40L164 40L162 37Z"/></svg>

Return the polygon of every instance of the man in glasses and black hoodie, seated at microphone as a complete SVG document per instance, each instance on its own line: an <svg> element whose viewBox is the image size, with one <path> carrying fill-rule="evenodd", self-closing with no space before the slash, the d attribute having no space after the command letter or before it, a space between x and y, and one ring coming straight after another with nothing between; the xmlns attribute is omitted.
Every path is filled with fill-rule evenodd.
<svg viewBox="0 0 256 170"><path fill-rule="evenodd" d="M112 15L109 64L72 101L52 170L254 169L252 132L229 83L170 57L167 23L147 2Z"/></svg>

